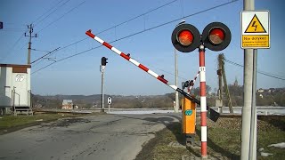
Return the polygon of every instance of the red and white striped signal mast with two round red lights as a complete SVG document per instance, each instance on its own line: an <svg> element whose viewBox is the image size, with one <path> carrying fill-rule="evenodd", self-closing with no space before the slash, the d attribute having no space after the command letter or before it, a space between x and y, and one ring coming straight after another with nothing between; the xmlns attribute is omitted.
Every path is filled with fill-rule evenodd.
<svg viewBox="0 0 285 160"><path fill-rule="evenodd" d="M205 48L212 51L222 51L231 42L231 31L221 22L212 22L204 28L202 35L191 24L178 25L171 36L172 44L180 52L192 52L199 48L199 96L200 96L200 125L201 125L201 156L207 158L207 92Z"/></svg>

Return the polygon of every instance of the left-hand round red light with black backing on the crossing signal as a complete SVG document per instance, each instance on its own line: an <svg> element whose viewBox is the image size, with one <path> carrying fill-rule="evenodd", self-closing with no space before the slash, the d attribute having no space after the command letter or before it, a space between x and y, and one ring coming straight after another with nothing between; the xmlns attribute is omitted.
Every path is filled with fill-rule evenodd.
<svg viewBox="0 0 285 160"><path fill-rule="evenodd" d="M172 44L180 52L192 52L199 47L199 30L191 24L179 24L171 36Z"/></svg>

